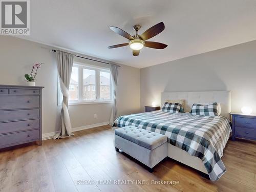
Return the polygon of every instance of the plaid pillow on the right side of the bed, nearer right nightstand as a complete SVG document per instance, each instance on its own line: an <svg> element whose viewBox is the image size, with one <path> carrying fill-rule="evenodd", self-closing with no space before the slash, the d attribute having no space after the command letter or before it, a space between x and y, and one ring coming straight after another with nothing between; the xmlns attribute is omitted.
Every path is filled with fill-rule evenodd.
<svg viewBox="0 0 256 192"><path fill-rule="evenodd" d="M192 115L218 116L218 104L208 105L194 103L190 112Z"/></svg>

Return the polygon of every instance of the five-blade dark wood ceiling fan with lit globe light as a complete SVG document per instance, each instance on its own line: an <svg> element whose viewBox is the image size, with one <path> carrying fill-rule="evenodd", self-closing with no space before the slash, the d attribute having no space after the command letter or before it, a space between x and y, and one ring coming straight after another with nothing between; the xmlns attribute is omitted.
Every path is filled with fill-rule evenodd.
<svg viewBox="0 0 256 192"><path fill-rule="evenodd" d="M133 26L134 30L136 31L136 35L132 36L129 33L126 33L122 29L118 27L109 27L112 31L115 33L129 39L129 42L126 42L124 44L118 44L114 46L109 46L109 49L123 47L129 45L130 48L133 50L133 55L138 56L140 53L140 50L145 46L149 48L154 49L164 49L167 47L165 44L161 44L161 42L154 42L154 41L145 41L147 39L150 39L159 33L161 33L164 30L164 24L163 22L160 22L159 24L154 25L150 29L146 30L141 35L138 35L138 31L141 28L140 25Z"/></svg>

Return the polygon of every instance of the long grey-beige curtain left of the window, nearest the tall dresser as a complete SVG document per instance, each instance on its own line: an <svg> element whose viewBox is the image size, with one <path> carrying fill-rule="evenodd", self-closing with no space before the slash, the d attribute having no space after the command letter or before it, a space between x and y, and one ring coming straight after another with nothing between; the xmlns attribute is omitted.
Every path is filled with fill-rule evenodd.
<svg viewBox="0 0 256 192"><path fill-rule="evenodd" d="M74 135L72 133L72 126L69 117L69 84L73 67L74 56L70 53L65 53L62 51L56 52L57 56L57 67L58 67L58 78L60 84L60 90L63 95L63 101L61 103L62 109L60 113L61 126L59 132L55 135L53 139L60 139L68 136Z"/></svg>

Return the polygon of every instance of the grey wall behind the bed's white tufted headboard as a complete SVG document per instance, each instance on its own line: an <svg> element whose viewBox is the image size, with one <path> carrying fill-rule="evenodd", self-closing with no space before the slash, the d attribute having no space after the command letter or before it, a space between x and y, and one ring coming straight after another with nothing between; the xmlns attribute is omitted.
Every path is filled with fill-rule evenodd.
<svg viewBox="0 0 256 192"><path fill-rule="evenodd" d="M256 41L141 69L141 111L161 92L231 91L233 112L256 113Z"/></svg>

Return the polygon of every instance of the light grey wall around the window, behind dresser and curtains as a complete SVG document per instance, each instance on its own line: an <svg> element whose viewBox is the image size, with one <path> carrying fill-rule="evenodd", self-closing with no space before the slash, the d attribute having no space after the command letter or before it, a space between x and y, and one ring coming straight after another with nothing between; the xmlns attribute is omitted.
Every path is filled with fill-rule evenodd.
<svg viewBox="0 0 256 192"><path fill-rule="evenodd" d="M55 53L36 42L11 36L0 36L0 84L25 84L24 74L30 73L35 62L44 62L36 77L36 86L44 86L42 91L42 132L58 131L60 106L57 106L57 67ZM50 47L48 47L50 48ZM108 65L85 59L75 61L89 65ZM118 115L140 111L140 70L121 66L117 85ZM109 121L112 104L70 105L73 127L80 127ZM97 118L94 118L97 114Z"/></svg>

